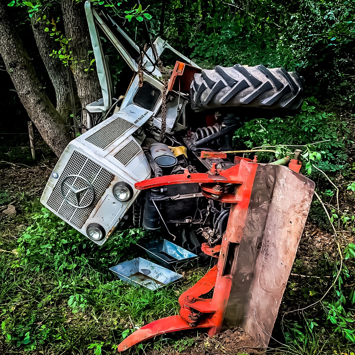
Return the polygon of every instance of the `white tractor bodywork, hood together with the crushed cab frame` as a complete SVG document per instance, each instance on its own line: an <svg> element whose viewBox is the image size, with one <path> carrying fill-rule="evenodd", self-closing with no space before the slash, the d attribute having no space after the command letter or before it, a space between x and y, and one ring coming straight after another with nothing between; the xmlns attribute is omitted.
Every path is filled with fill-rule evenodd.
<svg viewBox="0 0 355 355"><path fill-rule="evenodd" d="M41 202L90 240L102 245L135 201L139 193L135 182L151 176L151 167L141 148L145 138L141 127L146 124L153 136L160 135L166 92L152 47L147 47L141 61L138 45L109 16L99 14L89 1L85 2L85 11L103 95L86 109L91 113L107 114L95 126L88 122L90 130L69 143L45 186ZM98 28L134 72L120 102L113 98L108 59L102 51ZM168 50L182 62L199 68L162 38L157 37L152 43L158 56ZM169 92L166 132L186 129L186 103L186 94Z"/></svg>

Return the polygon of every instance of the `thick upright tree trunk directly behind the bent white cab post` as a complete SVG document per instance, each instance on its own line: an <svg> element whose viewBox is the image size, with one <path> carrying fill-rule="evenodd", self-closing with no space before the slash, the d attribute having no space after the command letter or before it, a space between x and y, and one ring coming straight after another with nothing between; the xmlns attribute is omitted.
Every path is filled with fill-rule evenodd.
<svg viewBox="0 0 355 355"><path fill-rule="evenodd" d="M95 70L91 70L89 50L92 50L90 34L84 11L84 2L61 0L65 35L76 63L71 69L82 107L102 97L99 78ZM85 69L88 69L85 71Z"/></svg>

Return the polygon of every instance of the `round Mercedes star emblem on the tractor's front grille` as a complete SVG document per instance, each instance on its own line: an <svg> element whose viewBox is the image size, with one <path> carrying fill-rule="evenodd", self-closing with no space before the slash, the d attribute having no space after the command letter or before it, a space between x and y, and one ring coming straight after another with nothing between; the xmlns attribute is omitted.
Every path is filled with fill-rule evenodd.
<svg viewBox="0 0 355 355"><path fill-rule="evenodd" d="M90 191L86 193L88 190ZM94 188L87 179L80 175L68 175L66 178L64 178L61 183L61 191L64 200L73 207L86 208L94 202ZM70 200L77 203L73 203ZM85 201L83 202L83 200Z"/></svg>

